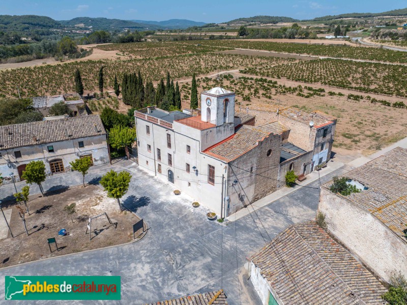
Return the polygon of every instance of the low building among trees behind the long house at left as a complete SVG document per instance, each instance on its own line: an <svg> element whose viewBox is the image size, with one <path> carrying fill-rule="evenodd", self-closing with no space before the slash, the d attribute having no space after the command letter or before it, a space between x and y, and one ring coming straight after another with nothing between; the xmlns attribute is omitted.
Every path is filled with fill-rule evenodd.
<svg viewBox="0 0 407 305"><path fill-rule="evenodd" d="M41 112L44 117L47 117L49 115L49 108L59 102L64 102L68 105L73 117L88 115L85 102L77 93L37 96L33 98L33 107Z"/></svg>

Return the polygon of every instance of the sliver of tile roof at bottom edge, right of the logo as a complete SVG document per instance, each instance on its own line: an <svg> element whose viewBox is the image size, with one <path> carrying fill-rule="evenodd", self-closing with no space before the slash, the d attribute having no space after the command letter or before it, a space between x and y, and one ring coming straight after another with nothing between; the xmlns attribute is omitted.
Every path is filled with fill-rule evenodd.
<svg viewBox="0 0 407 305"><path fill-rule="evenodd" d="M149 303L146 305L227 305L226 295L223 290L188 295L177 299Z"/></svg>

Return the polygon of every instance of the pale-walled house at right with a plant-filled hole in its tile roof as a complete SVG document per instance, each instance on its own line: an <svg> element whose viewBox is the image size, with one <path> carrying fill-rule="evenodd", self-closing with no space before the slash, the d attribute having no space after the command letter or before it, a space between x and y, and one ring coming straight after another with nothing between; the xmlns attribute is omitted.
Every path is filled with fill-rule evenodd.
<svg viewBox="0 0 407 305"><path fill-rule="evenodd" d="M321 189L319 211L328 228L353 253L388 281L407 276L407 149L395 148L343 177L360 192L343 196Z"/></svg>

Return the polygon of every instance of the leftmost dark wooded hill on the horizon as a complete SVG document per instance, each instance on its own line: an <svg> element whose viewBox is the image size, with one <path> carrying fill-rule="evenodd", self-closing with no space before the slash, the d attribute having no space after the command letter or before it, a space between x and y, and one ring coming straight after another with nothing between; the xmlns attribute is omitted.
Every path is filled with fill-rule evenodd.
<svg viewBox="0 0 407 305"><path fill-rule="evenodd" d="M0 31L24 31L34 28L57 28L61 23L46 17L37 15L0 15Z"/></svg>

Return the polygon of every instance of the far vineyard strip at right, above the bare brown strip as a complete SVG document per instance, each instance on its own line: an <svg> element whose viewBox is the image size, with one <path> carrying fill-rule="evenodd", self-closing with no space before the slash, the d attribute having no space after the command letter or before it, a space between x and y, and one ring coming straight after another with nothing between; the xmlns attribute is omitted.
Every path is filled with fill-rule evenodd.
<svg viewBox="0 0 407 305"><path fill-rule="evenodd" d="M333 58L349 58L389 63L407 63L407 52L375 47L247 40L203 40L183 43L198 43L205 46L255 49L281 53L307 54L313 56L328 56Z"/></svg>

